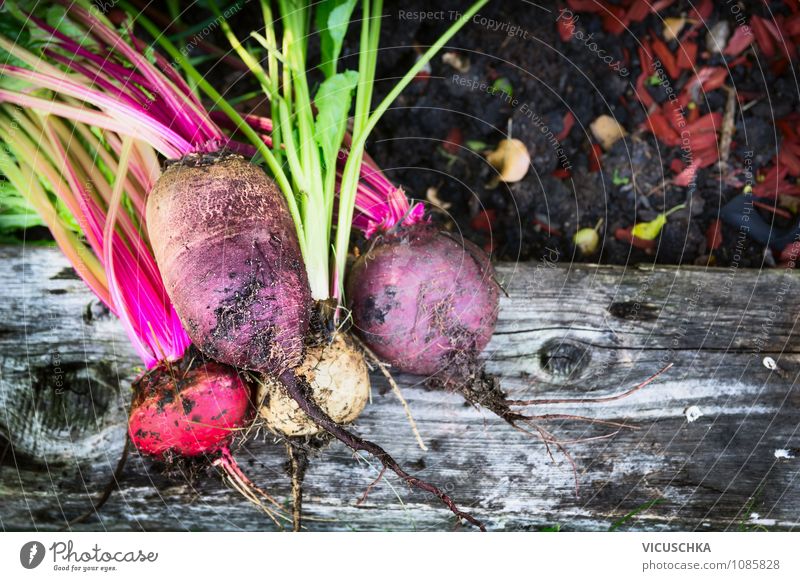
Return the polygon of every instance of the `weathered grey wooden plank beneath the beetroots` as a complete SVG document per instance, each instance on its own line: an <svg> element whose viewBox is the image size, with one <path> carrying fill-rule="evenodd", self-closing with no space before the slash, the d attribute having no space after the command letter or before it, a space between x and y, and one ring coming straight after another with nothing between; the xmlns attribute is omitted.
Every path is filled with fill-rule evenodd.
<svg viewBox="0 0 800 581"><path fill-rule="evenodd" d="M112 471L137 362L119 325L55 250L0 248L0 265L0 435L15 444L13 451L6 447L0 467L0 524L53 529L81 513L87 495ZM793 272L553 261L501 265L499 274L509 297L487 365L503 386L515 397L603 395L673 362L657 384L630 398L538 410L639 429L567 446L578 467L578 496L563 456L552 461L539 440L465 405L458 394L424 389L419 378L398 379L428 452L416 447L380 377L373 378L374 402L358 421L360 433L451 491L495 530L607 529L653 499L661 501L625 526L797 526L800 294ZM765 356L778 362L778 371L763 365ZM687 410L701 415L689 422ZM569 421L548 428L564 440L608 432ZM288 498L281 443L267 437L238 457L257 482ZM357 506L376 474L373 461L338 444L326 449L307 475L308 527L453 527L435 499L391 477ZM215 475L167 478L134 456L120 492L79 528L270 527Z"/></svg>

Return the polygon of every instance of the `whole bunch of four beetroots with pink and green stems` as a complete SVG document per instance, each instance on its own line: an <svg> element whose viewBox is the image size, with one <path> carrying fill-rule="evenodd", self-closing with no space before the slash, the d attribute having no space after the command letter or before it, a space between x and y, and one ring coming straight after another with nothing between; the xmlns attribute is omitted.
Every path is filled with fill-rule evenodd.
<svg viewBox="0 0 800 581"><path fill-rule="evenodd" d="M13 57L0 64L13 81L0 84L0 104L23 108L40 120L41 135L58 143L51 156L55 177L44 177L57 196L73 190L77 198L70 209L86 225L89 248L74 253L73 263L126 324L148 368L134 386L129 421L140 452L210 461L278 522L277 502L239 470L232 443L257 417L286 438L295 458L301 448L294 442L324 431L483 528L441 489L344 425L369 398L365 352L458 389L514 425L534 419L515 406L541 403L508 400L479 364L500 292L488 256L438 232L365 153L368 136L400 91L487 1L466 11L374 109L380 0L360 3L357 71L338 70L356 0L313 6L280 0L275 14L262 0L264 34L251 37L266 49L266 69L221 19L269 98L271 119L241 116L125 2L120 6L130 18L116 23L85 0L65 0L58 22L48 20L52 11L44 17L17 8L14 16L40 38L32 39L35 50L0 40ZM209 114L158 52L143 55L134 20L224 117ZM70 26L60 26L65 21ZM324 77L313 95L312 22L322 39ZM101 161L81 150L59 167L67 146L54 123L91 127L80 147L97 147ZM32 135L34 142L40 138ZM166 159L163 173L153 150ZM247 161L256 152L270 175ZM24 165L24 159L20 150L16 161ZM19 183L34 170L24 168ZM86 176L102 183L109 175L120 177L104 196L80 187ZM69 176L61 189L59 176ZM42 206L40 213L46 211ZM369 240L347 272L353 225ZM53 222L51 230L59 239L60 226ZM87 254L99 262L94 268L84 264ZM103 277L105 287L98 282ZM366 348L353 340L350 325ZM539 433L548 441L548 432ZM295 500L299 505L299 494ZM297 513L294 526L300 526Z"/></svg>

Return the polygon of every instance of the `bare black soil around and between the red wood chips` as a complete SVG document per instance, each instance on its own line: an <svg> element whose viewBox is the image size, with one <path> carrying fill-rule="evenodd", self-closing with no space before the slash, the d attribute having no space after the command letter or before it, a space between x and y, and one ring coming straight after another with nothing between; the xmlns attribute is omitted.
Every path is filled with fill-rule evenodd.
<svg viewBox="0 0 800 581"><path fill-rule="evenodd" d="M378 78L386 80L377 87L378 97L413 64L416 53L409 47L427 46L450 24L448 10L443 11L443 18L408 17L409 13L430 11L429 2L387 4L381 39L385 48L378 70ZM773 14L790 14L780 2L768 4L772 4ZM688 2L674 2L657 15L631 23L629 30L619 35L604 30L600 15L575 12L574 30L593 34L597 48L627 69L628 75L623 76L585 42L574 36L568 41L560 38L557 8L548 11L528 3L494 2L481 12L480 19L501 23L495 25L499 30L479 22L466 26L451 42L457 48L449 49L457 53L462 71L450 64L453 60L449 57L449 62L441 55L435 58L430 74L420 75L386 114L369 151L411 196L431 201L429 192L435 189L433 200L447 206L446 211L435 213L442 224L459 229L500 260L552 261L557 252L561 262L735 263L738 267L770 265L772 259L780 262L777 251L765 256L765 245L742 234L739 227L721 224L722 242L716 249L709 248L708 232L720 218L721 208L746 185L749 162L744 152L754 153L749 167L753 184L757 184L759 172L767 172L774 163L782 139L776 120L798 110L796 55L794 62L785 62L786 58L781 62L780 53L766 58L755 41L737 56L710 53L708 30L725 20L732 35L741 22L728 4L716 3L705 17L706 24L685 39L699 49L694 71L682 70L677 78L668 79L678 93L695 71L725 67L726 62L730 66L745 55L730 67L724 80L725 86L735 88L739 105L745 108L736 109L728 167L721 171L715 163L700 169L693 192L691 187L672 185L677 174L671 164L681 158L681 148L665 146L651 131L642 130L648 109L634 90L642 70L637 51L643 39L662 37L663 19L686 15L690 8ZM761 2L743 12L748 20L770 14ZM517 27L513 32L512 26ZM683 33L690 28L687 24ZM685 42L682 38L681 46ZM667 46L672 53L681 50L676 41ZM464 70L466 61L468 70ZM459 78L490 86L506 79L517 102L509 102L502 92L464 86ZM647 91L654 107L667 103L666 85L648 83ZM725 87L705 90L704 86L690 107L696 106L700 117L710 112L722 115L726 100ZM561 152L547 130L555 135L562 132L568 112L575 121L560 141L563 154L559 158ZM597 169L589 161L596 143L589 126L600 115L616 118L628 136L602 152ZM468 142L494 147L507 136L509 121L513 137L525 142L531 152L532 168L521 182L490 188L486 184L494 171ZM796 119L793 123L797 125ZM563 171L565 165L570 166L568 175ZM787 179L795 184L797 178L790 174ZM682 203L687 208L669 217L655 248L635 248L615 237L618 229L652 220ZM795 222L793 210L791 219L755 211L774 227L790 227ZM572 236L601 218L600 248L593 255L582 256L572 244Z"/></svg>

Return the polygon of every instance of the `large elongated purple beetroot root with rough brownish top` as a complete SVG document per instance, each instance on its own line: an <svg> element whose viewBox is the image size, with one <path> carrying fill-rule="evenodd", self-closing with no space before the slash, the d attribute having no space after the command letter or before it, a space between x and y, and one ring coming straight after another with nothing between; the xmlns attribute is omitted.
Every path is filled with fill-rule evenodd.
<svg viewBox="0 0 800 581"><path fill-rule="evenodd" d="M147 200L147 229L189 337L209 357L280 374L303 358L311 294L275 183L236 155L172 163Z"/></svg>

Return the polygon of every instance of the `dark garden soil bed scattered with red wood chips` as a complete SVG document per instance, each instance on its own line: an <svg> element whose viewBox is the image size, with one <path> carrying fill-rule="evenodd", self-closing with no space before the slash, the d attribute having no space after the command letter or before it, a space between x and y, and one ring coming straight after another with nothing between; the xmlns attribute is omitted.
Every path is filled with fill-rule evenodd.
<svg viewBox="0 0 800 581"><path fill-rule="evenodd" d="M402 75L416 54L408 47L425 46L450 23L451 9L433 4L387 2L379 78ZM767 250L766 240L754 240L755 229L748 225L758 214L767 222L767 234L772 225L775 238L775 228L796 222L797 3L767 2L769 8L762 2L740 3L732 9L734 3L695 2L693 11L688 2L656 2L666 6L657 14L645 11L638 22L637 5L644 2L618 4L627 5L617 12L630 21L627 30L615 29L614 19L603 11L574 10L570 18L550 3L542 3L548 8L522 1L490 4L452 41L447 52L453 54L437 57L429 75L420 75L400 97L369 151L411 196L439 204L443 224L462 230L500 260L552 260L557 251L564 262L739 267L786 262L781 244ZM464 9L468 3L458 5ZM568 5L599 10L593 1L560 6ZM431 10L438 12L413 14ZM665 19L680 17L688 20L679 40L665 41ZM748 24L749 34L740 31L734 42L742 24ZM786 49L774 34L785 40ZM737 42L747 45L739 49ZM730 54L719 54L715 44ZM642 50L646 65L650 57L662 63L663 78L655 65L642 73ZM610 55L606 61L612 63L601 55ZM390 84L379 85L379 96ZM670 107L670 90L684 105L683 126ZM720 144L729 90L736 108L728 129L733 130L728 163L720 167L716 158L728 149ZM600 115L615 118L628 133L608 151L595 145L590 130ZM571 129L565 127L570 117ZM506 138L509 123L513 137L527 145L532 167L522 181L491 187L495 172L482 150ZM683 141L686 127L692 131ZM782 154L776 170L776 155L787 144L793 149ZM599 163L590 161L595 153ZM690 174L681 172L693 161L705 165L694 186L673 183L678 176L679 183L687 181ZM727 223L717 222L725 204L750 191L748 184L753 195L766 198L759 202L763 206L754 208L748 196L745 209L733 212ZM781 192L778 214L766 209L775 205L776 190ZM686 209L671 214L654 240L631 244L631 226L682 203ZM748 213L749 222L737 218ZM601 218L600 246L583 255L572 237Z"/></svg>

